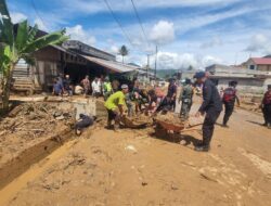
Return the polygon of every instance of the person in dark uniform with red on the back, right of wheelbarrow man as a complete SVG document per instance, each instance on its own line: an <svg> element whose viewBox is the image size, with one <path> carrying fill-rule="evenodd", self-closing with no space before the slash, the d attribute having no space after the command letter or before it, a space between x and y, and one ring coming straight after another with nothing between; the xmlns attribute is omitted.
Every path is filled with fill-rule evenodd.
<svg viewBox="0 0 271 206"><path fill-rule="evenodd" d="M223 117L223 125L222 127L229 127L227 124L233 113L235 102L237 102L237 105L240 105L240 100L237 96L237 90L236 90L237 82L236 81L230 81L229 87L223 91L222 101L224 104L224 117Z"/></svg>

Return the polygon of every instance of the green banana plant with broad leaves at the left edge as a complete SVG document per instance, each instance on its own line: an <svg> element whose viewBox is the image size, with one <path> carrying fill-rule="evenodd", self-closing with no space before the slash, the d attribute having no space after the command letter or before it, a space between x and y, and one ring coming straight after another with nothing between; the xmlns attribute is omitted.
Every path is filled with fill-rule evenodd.
<svg viewBox="0 0 271 206"><path fill-rule="evenodd" d="M39 38L36 38L37 31L38 26L30 27L27 21L21 22L15 31L5 0L0 0L0 82L4 111L9 110L12 75L18 60L34 64L33 52L68 39L65 29Z"/></svg>

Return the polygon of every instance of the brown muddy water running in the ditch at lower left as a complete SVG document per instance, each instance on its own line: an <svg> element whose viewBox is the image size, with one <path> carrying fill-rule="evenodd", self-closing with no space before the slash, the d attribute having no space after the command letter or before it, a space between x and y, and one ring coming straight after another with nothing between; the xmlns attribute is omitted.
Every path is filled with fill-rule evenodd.
<svg viewBox="0 0 271 206"><path fill-rule="evenodd" d="M52 166L60 157L65 155L67 151L76 143L77 140L72 140L55 150L52 154L46 157L44 164L39 163L33 165L26 172L17 177L0 191L0 205L7 205L9 201L15 196L29 181L40 176L50 166ZM42 160L41 160L42 162Z"/></svg>

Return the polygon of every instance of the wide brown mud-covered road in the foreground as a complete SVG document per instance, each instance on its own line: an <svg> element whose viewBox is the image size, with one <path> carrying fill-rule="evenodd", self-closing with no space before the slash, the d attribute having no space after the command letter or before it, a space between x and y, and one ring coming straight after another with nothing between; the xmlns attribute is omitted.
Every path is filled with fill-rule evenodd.
<svg viewBox="0 0 271 206"><path fill-rule="evenodd" d="M261 123L237 110L229 129L217 125L209 153L194 152L198 131L172 142L152 128L89 129L0 191L0 205L271 205L271 130Z"/></svg>

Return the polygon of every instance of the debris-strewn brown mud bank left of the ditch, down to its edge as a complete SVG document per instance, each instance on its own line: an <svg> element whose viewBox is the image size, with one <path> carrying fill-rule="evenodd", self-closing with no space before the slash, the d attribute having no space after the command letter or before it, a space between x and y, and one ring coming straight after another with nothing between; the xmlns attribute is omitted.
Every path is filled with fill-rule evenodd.
<svg viewBox="0 0 271 206"><path fill-rule="evenodd" d="M12 156L48 137L69 129L75 112L57 103L22 103L0 121L0 168Z"/></svg>

